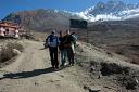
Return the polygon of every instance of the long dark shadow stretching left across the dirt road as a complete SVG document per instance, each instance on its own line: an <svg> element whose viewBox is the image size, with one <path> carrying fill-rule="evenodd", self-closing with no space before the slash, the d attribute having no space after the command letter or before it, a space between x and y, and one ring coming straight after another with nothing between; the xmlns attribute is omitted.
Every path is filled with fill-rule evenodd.
<svg viewBox="0 0 139 92"><path fill-rule="evenodd" d="M3 75L3 78L10 78L10 79L20 79L20 78L30 78L30 77L35 77L35 76L39 76L42 74L49 74L49 73L53 73L56 71L54 68L45 68L45 69L35 69L33 71L22 71L22 73L16 73L16 74L5 74Z"/></svg>

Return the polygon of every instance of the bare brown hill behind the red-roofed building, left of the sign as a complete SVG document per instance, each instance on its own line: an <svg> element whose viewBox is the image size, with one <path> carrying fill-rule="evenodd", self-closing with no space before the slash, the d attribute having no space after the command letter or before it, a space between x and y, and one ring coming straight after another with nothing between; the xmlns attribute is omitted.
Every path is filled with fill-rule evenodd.
<svg viewBox="0 0 139 92"><path fill-rule="evenodd" d="M68 28L71 17L77 16L64 11L39 9L11 13L3 21L18 23L30 30L46 31Z"/></svg>

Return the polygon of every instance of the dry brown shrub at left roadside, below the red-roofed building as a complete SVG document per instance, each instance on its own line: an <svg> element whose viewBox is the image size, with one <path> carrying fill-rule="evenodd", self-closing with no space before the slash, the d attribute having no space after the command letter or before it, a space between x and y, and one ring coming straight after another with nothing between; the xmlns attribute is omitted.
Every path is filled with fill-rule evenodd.
<svg viewBox="0 0 139 92"><path fill-rule="evenodd" d="M15 56L15 54L13 53L13 49L16 49L21 52L24 50L23 45L20 43L7 43L4 47L1 48L0 63L4 63Z"/></svg>

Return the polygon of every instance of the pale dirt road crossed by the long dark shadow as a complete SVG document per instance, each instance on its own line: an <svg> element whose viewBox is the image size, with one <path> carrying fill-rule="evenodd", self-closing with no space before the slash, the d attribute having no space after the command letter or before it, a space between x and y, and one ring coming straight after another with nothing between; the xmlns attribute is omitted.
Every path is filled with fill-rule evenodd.
<svg viewBox="0 0 139 92"><path fill-rule="evenodd" d="M9 73L0 80L0 92L86 92L79 82L81 70L75 66L52 70L42 42L25 43L25 51L15 62L2 68Z"/></svg>

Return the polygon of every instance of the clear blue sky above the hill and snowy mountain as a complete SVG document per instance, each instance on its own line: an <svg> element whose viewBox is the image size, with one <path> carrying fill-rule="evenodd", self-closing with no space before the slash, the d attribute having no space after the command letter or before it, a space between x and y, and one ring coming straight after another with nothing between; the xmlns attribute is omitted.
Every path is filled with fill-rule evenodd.
<svg viewBox="0 0 139 92"><path fill-rule="evenodd" d="M0 0L0 19L11 12L35 9L58 9L71 12L80 12L94 5L99 1L104 2L110 0ZM127 3L139 2L138 0L121 1Z"/></svg>

